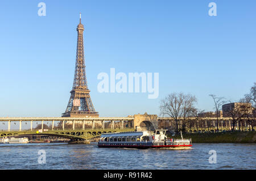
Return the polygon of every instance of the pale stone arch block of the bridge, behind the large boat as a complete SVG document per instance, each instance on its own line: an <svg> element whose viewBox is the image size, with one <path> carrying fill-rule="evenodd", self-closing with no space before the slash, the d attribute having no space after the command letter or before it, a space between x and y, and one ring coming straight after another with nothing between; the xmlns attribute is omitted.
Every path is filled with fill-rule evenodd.
<svg viewBox="0 0 256 181"><path fill-rule="evenodd" d="M144 115L138 114L134 115L134 122L133 127L134 129L136 127L146 127L146 128L158 128L158 122L157 122L158 115L148 115L146 112Z"/></svg>

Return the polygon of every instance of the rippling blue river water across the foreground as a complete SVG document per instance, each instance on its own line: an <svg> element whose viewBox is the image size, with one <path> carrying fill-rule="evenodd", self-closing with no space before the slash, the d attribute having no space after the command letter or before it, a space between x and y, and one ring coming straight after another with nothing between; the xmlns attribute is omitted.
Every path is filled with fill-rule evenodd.
<svg viewBox="0 0 256 181"><path fill-rule="evenodd" d="M209 163L210 150L217 163ZM256 169L256 144L193 144L187 150L0 144L0 161L0 169Z"/></svg>

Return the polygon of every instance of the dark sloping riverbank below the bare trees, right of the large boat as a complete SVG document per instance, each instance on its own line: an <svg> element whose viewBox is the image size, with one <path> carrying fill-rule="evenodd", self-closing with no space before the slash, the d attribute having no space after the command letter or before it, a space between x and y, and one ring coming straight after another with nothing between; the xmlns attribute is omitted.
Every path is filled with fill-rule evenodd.
<svg viewBox="0 0 256 181"><path fill-rule="evenodd" d="M256 143L256 132L189 133L183 134L183 138L191 138L192 143Z"/></svg>

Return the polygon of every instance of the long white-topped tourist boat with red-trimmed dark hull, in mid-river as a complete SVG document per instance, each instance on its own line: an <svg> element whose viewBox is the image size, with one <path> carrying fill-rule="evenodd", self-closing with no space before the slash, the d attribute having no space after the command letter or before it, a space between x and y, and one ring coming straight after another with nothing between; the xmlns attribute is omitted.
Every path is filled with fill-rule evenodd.
<svg viewBox="0 0 256 181"><path fill-rule="evenodd" d="M155 129L147 131L104 133L101 134L98 147L100 148L191 148L190 139L168 139L166 131L168 129Z"/></svg>

